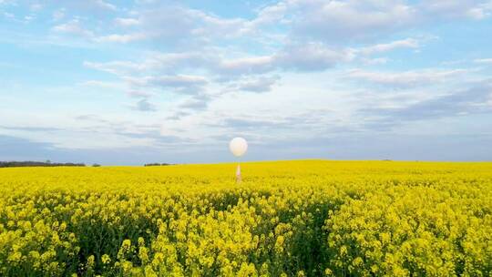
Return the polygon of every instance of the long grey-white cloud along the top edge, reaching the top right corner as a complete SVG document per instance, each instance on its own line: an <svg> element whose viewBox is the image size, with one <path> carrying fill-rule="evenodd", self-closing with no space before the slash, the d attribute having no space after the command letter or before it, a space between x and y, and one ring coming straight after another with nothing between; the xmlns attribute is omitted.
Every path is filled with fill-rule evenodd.
<svg viewBox="0 0 492 277"><path fill-rule="evenodd" d="M287 23L293 39L330 44L367 41L428 23L490 15L489 1L284 0L264 7L259 22ZM254 22L253 20L252 22Z"/></svg>

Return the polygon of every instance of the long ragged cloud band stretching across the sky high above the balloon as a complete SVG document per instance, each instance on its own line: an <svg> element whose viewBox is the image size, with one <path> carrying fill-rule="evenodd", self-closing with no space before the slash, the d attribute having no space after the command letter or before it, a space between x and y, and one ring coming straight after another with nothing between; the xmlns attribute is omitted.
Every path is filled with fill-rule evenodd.
<svg viewBox="0 0 492 277"><path fill-rule="evenodd" d="M151 53L141 62L113 61L85 62L84 66L118 76L134 74L170 73L177 70L202 70L219 79L260 75L275 70L323 71L339 63L354 60L353 49L332 49L320 43L287 46L277 53L265 56L224 58L226 49L212 52Z"/></svg>

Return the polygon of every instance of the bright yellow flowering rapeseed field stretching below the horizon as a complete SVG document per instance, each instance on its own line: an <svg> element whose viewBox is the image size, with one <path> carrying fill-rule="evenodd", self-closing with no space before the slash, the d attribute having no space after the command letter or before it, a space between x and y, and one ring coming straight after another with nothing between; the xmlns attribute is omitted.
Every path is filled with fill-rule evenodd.
<svg viewBox="0 0 492 277"><path fill-rule="evenodd" d="M2 276L491 276L492 163L0 169Z"/></svg>

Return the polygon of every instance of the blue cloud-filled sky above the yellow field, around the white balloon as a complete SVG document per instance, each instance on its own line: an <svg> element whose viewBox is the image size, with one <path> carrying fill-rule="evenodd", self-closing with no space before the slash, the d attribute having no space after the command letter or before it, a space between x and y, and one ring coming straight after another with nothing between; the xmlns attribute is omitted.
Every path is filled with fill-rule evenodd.
<svg viewBox="0 0 492 277"><path fill-rule="evenodd" d="M490 160L490 34L490 0L0 0L0 160Z"/></svg>

